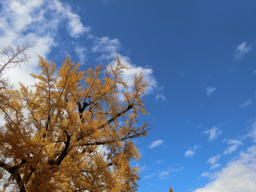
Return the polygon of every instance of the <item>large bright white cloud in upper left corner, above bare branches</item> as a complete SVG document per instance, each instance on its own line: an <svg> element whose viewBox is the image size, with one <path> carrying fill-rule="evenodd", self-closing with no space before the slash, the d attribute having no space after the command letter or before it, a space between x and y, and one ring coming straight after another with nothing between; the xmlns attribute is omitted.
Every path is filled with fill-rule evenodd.
<svg viewBox="0 0 256 192"><path fill-rule="evenodd" d="M71 37L78 37L89 31L68 4L57 0L0 2L0 48L8 45L34 45L27 52L32 56L28 65L11 69L7 74L12 83L18 84L20 78L17 77L22 77L22 82L27 86L34 82L29 73L38 73L37 55L47 57L52 48L58 45L58 30L61 27L65 29L66 26Z"/></svg>

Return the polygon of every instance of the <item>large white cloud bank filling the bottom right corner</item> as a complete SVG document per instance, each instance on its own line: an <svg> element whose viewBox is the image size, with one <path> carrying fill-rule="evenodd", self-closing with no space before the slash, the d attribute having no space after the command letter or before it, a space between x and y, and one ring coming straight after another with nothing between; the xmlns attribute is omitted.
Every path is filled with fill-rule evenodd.
<svg viewBox="0 0 256 192"><path fill-rule="evenodd" d="M210 174L203 173L203 176ZM230 161L219 172L211 175L213 180L205 187L198 188L194 192L254 192L256 188L256 146L247 148L246 152L240 152L237 160Z"/></svg>

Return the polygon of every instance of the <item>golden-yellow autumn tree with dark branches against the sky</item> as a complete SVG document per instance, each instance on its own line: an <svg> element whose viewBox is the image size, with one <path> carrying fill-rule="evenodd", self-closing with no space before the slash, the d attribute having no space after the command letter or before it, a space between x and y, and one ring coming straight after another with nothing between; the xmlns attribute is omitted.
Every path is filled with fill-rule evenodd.
<svg viewBox="0 0 256 192"><path fill-rule="evenodd" d="M31 74L33 86L20 82L15 89L3 71L12 67L13 59L27 61L27 48L2 52L9 56L0 66L2 187L136 191L139 168L132 167L131 160L140 155L133 138L148 131L147 124L136 123L146 114L142 96L148 82L143 74L135 74L130 91L122 79L127 68L118 57L115 65L83 72L68 57L56 70L55 63L39 56L41 71ZM18 57L23 54L26 57Z"/></svg>

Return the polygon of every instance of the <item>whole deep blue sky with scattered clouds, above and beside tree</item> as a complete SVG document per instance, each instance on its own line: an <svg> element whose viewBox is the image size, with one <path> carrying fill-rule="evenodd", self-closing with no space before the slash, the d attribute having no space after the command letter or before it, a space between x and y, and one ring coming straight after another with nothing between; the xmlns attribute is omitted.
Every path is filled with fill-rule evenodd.
<svg viewBox="0 0 256 192"><path fill-rule="evenodd" d="M9 72L31 84L40 54L81 69L122 62L143 71L151 131L138 191L255 191L256 2L10 0L0 3L0 47L27 43L30 63ZM22 79L21 79L22 78ZM129 80L130 75L125 78Z"/></svg>

